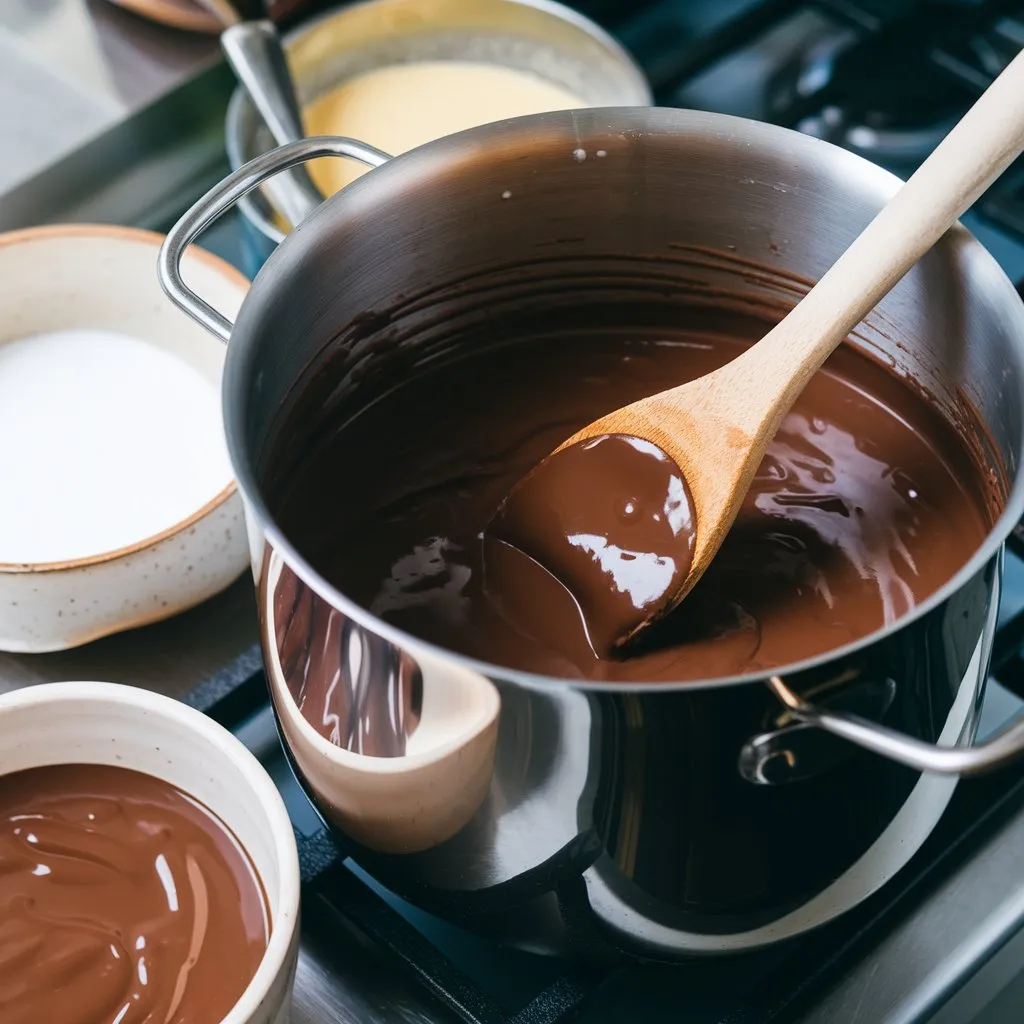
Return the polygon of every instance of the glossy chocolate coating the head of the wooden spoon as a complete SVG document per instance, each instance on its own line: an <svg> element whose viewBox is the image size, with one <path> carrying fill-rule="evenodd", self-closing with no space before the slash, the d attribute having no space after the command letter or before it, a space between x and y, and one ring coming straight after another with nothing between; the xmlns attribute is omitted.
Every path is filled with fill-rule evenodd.
<svg viewBox="0 0 1024 1024"><path fill-rule="evenodd" d="M694 525L676 463L651 441L612 434L545 459L502 504L487 537L531 558L569 592L595 654L606 656L679 591ZM496 596L503 579L531 571L514 560L492 550L487 588Z"/></svg>

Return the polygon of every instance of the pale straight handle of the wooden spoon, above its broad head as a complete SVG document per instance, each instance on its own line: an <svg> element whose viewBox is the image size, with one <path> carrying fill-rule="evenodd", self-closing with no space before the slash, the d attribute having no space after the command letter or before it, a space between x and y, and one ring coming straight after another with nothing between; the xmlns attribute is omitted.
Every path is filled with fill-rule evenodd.
<svg viewBox="0 0 1024 1024"><path fill-rule="evenodd" d="M736 369L746 381L759 381L760 393L774 392L776 415L770 433L829 353L1022 150L1024 52L803 301L760 344L734 360L749 364ZM765 412L763 407L751 410L751 421L763 418Z"/></svg>

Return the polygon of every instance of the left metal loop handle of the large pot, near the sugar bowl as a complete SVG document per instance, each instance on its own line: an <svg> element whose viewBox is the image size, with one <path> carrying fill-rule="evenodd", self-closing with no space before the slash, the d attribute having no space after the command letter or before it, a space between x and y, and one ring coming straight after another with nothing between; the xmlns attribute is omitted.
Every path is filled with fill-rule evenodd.
<svg viewBox="0 0 1024 1024"><path fill-rule="evenodd" d="M225 214L243 196L259 187L267 178L318 157L350 157L370 167L380 167L391 158L380 150L351 138L318 135L289 142L243 164L195 203L167 232L160 247L157 272L168 298L194 321L225 342L231 322L205 299L200 298L181 276L181 260L196 238Z"/></svg>

